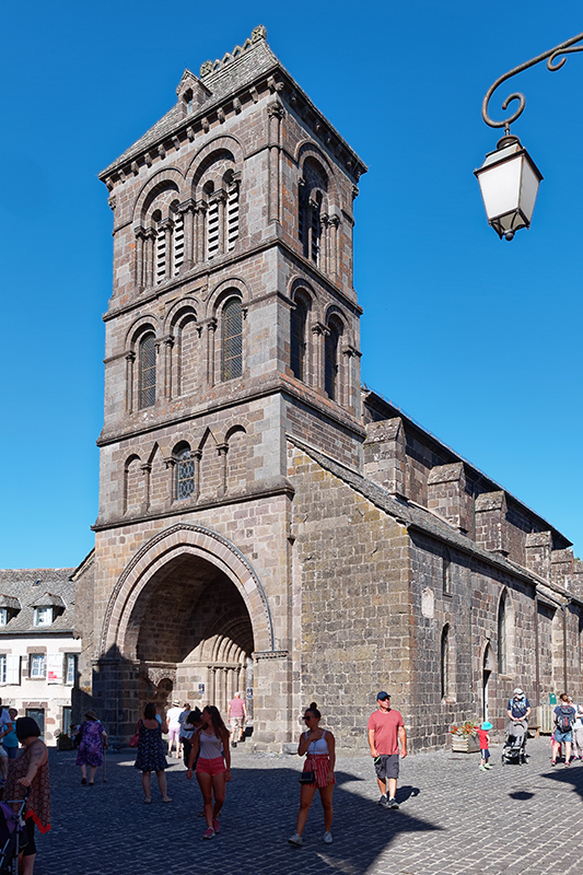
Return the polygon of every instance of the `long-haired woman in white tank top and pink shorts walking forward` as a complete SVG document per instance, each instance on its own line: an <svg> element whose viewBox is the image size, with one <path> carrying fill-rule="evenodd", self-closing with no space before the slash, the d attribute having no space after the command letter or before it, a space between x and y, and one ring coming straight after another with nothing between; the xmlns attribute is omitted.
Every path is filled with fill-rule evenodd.
<svg viewBox="0 0 583 875"><path fill-rule="evenodd" d="M219 832L219 814L224 804L225 782L231 780L231 750L229 730L219 709L208 704L202 711L202 726L193 737L186 777L193 779L193 763L197 759L196 777L205 803L207 829L203 839L213 839ZM214 794L214 804L212 796Z"/></svg>

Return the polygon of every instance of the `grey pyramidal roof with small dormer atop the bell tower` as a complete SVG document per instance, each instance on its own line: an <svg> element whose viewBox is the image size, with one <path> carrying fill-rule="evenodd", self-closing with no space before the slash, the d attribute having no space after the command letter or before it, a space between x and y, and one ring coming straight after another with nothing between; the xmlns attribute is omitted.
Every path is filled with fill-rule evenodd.
<svg viewBox="0 0 583 875"><path fill-rule="evenodd" d="M102 171L100 178L104 179L114 171L120 168L121 165L131 162L156 143L162 143L165 138L175 135L180 127L193 126L197 119L200 119L201 116L208 116L213 108L220 106L228 98L233 98L241 91L249 89L258 80L265 79L269 74L272 75L275 72L279 72L285 78L294 92L302 95L303 100L310 105L312 113L318 118L318 121L325 122L326 127L334 131L335 137L342 143L343 149L354 159L360 173L365 173L366 166L281 65L266 42L266 36L265 27L259 25L243 46L235 46L233 51L228 52L223 58L219 58L215 61L206 61L200 68L200 79L197 79L191 71L185 70L182 81L188 79L200 86L196 112L185 116L180 101L178 101L139 140L136 140L129 149Z"/></svg>

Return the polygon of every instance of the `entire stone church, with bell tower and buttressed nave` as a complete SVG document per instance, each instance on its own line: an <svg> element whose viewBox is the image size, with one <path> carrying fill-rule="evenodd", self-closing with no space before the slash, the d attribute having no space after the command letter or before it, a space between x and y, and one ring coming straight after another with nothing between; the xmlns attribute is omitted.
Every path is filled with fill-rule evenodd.
<svg viewBox="0 0 583 875"><path fill-rule="evenodd" d="M114 217L82 702L127 738L149 700L246 691L256 749L320 707L362 749L386 689L413 749L581 697L570 541L360 380L366 167L266 42L186 70L100 176Z"/></svg>

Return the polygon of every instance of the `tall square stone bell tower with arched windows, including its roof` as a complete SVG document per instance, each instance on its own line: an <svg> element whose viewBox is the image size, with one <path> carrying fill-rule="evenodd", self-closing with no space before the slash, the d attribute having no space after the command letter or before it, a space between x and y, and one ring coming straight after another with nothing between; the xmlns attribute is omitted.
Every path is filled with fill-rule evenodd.
<svg viewBox="0 0 583 875"><path fill-rule="evenodd" d="M114 282L82 678L114 735L148 700L223 710L237 689L257 744L295 735L287 441L362 467L363 172L259 26L186 70L172 109L100 176Z"/></svg>

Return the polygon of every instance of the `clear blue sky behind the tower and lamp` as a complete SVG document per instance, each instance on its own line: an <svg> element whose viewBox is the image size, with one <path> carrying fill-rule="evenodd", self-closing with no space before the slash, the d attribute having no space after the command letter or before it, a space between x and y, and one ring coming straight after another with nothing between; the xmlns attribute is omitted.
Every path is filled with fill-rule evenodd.
<svg viewBox="0 0 583 875"><path fill-rule="evenodd" d="M581 3L202 8L3 10L0 565L75 565L93 545L112 276L97 173L172 106L185 67L259 23L370 168L355 202L363 381L580 555L583 56L523 73L492 104L526 95L513 132L545 176L529 231L498 240L473 171L499 136L481 120L487 89L582 31Z"/></svg>

